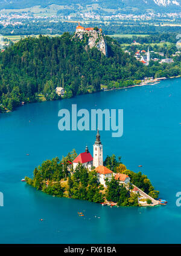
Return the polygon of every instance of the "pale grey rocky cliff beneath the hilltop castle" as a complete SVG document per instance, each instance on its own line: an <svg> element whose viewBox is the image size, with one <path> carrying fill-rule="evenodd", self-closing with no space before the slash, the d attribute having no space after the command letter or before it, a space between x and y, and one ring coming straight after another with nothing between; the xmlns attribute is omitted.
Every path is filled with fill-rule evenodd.
<svg viewBox="0 0 181 256"><path fill-rule="evenodd" d="M81 41L84 41L92 49L96 47L100 52L107 56L107 42L104 38L102 30L86 30L86 29L77 29L74 35L74 38L78 38ZM85 47L85 48L86 48Z"/></svg>

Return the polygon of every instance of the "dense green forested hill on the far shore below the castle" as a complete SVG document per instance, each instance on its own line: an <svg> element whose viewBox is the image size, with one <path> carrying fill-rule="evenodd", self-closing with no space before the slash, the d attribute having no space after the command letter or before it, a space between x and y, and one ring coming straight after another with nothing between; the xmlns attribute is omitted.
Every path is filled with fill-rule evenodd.
<svg viewBox="0 0 181 256"><path fill-rule="evenodd" d="M55 89L59 86L66 89L67 98L98 92L101 84L110 81L129 80L126 86L144 76L180 72L180 67L174 67L173 73L173 66L167 64L145 67L122 52L117 41L109 37L106 40L108 58L97 49L85 50L86 42L72 39L69 33L56 38L26 38L0 53L0 111L13 110L22 101L58 99Z"/></svg>

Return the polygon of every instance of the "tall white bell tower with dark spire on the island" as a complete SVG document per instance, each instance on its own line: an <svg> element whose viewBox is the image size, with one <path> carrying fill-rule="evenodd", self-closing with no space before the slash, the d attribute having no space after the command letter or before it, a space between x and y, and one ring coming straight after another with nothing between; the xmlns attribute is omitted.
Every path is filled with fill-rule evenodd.
<svg viewBox="0 0 181 256"><path fill-rule="evenodd" d="M93 166L103 166L103 145L100 140L100 133L97 130L95 144L93 145L94 155L93 155Z"/></svg>

